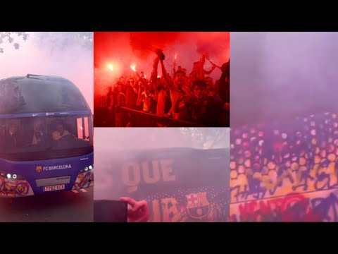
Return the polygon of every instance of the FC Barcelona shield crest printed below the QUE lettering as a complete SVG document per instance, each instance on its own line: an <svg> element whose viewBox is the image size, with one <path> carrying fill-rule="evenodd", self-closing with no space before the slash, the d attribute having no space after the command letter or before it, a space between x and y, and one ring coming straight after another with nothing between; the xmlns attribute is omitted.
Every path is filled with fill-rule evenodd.
<svg viewBox="0 0 338 254"><path fill-rule="evenodd" d="M191 193L187 198L187 213L194 219L202 219L210 213L211 207L206 193Z"/></svg>

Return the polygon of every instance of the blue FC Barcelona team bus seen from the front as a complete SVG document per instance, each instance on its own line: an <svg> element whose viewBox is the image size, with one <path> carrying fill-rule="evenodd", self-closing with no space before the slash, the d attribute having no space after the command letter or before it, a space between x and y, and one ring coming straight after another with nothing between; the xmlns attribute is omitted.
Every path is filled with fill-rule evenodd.
<svg viewBox="0 0 338 254"><path fill-rule="evenodd" d="M70 80L0 80L0 197L89 188L93 152L92 111Z"/></svg>

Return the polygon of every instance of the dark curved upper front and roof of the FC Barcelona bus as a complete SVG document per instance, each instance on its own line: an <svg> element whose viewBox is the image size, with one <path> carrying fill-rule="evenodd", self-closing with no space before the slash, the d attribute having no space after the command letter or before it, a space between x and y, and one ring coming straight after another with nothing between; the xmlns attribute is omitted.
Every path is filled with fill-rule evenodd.
<svg viewBox="0 0 338 254"><path fill-rule="evenodd" d="M0 114L90 111L78 87L58 76L27 74L0 80Z"/></svg>

